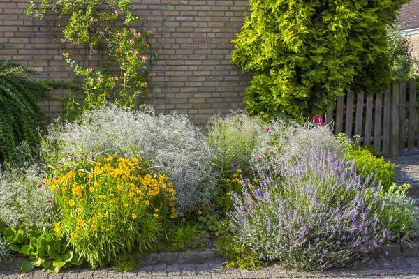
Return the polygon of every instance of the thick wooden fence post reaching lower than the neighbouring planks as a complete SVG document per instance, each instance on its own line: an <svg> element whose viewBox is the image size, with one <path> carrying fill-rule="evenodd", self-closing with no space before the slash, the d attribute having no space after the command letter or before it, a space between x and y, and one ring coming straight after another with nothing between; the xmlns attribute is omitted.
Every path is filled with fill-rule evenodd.
<svg viewBox="0 0 419 279"><path fill-rule="evenodd" d="M390 118L390 155L399 156L399 103L400 84L394 82L391 91L391 118Z"/></svg>

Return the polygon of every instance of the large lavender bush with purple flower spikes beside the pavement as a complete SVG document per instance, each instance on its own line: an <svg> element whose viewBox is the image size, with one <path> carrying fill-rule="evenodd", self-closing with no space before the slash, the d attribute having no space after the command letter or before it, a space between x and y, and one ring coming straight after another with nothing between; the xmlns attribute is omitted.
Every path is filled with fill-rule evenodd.
<svg viewBox="0 0 419 279"><path fill-rule="evenodd" d="M374 182L361 183L355 167L333 153L311 149L281 168L281 182L260 183L244 183L228 214L237 241L260 259L300 271L348 266L389 237Z"/></svg>

